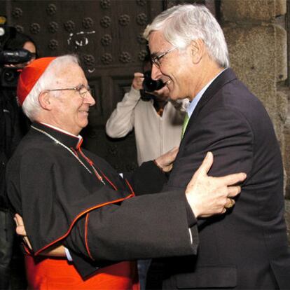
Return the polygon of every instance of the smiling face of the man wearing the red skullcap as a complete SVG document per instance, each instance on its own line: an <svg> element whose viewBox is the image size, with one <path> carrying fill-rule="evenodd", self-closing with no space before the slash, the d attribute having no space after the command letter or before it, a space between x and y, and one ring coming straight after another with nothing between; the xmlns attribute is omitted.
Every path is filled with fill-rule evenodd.
<svg viewBox="0 0 290 290"><path fill-rule="evenodd" d="M70 64L58 71L56 88L76 88L79 85L88 86L85 74L78 64ZM55 88L53 88L55 89ZM83 89L84 94L76 90L62 90L59 96L53 98L51 111L53 123L71 134L79 134L83 127L88 125L88 111L95 104L90 92Z"/></svg>

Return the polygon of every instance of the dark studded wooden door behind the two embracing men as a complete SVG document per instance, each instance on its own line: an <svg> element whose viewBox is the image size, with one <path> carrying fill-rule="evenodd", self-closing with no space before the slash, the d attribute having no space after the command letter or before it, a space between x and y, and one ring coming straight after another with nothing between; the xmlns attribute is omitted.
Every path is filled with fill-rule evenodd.
<svg viewBox="0 0 290 290"><path fill-rule="evenodd" d="M40 56L76 53L80 57L96 99L89 125L81 132L84 146L117 170L128 171L137 166L134 132L123 139L110 139L104 125L130 89L134 71L141 70L146 55L144 28L165 8L183 2L2 0L0 14L8 17L8 25L32 36ZM213 0L198 2L213 11Z"/></svg>

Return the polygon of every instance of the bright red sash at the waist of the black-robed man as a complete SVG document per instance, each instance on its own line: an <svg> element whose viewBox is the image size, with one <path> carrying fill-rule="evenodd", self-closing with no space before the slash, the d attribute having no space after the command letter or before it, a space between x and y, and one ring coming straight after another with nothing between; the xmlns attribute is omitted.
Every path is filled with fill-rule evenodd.
<svg viewBox="0 0 290 290"><path fill-rule="evenodd" d="M139 290L135 262L121 262L98 270L83 280L65 258L25 255L28 289Z"/></svg>

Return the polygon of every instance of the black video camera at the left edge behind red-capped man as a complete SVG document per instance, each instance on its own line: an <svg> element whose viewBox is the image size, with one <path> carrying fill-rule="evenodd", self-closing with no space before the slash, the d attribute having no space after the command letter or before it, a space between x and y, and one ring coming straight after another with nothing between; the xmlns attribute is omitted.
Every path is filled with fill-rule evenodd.
<svg viewBox="0 0 290 290"><path fill-rule="evenodd" d="M8 64L22 64L32 59L32 54L26 49L4 50L8 39L16 36L15 27L8 27L6 17L0 15L0 88L15 88L19 71Z"/></svg>

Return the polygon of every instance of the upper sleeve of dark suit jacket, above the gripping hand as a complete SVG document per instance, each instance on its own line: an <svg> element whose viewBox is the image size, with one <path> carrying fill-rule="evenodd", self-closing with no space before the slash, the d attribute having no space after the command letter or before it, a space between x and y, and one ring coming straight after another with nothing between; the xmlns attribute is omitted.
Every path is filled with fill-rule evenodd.
<svg viewBox="0 0 290 290"><path fill-rule="evenodd" d="M215 108L199 116L186 133L165 189L185 188L207 151L214 154L209 175L221 177L236 172L251 175L254 135L247 118L230 107Z"/></svg>

